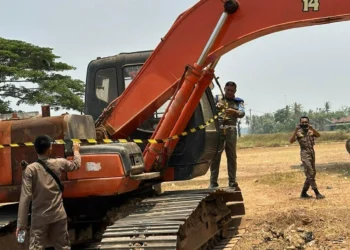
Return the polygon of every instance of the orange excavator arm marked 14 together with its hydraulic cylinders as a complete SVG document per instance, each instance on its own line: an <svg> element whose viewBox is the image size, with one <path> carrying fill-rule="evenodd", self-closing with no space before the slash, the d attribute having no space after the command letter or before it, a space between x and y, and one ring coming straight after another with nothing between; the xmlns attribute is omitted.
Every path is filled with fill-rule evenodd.
<svg viewBox="0 0 350 250"><path fill-rule="evenodd" d="M173 97L152 138L181 133L222 55L274 32L349 19L348 0L201 0L177 18L129 87L101 115L100 130L126 138ZM175 145L176 140L166 142L168 154ZM155 168L163 147L148 145L147 171Z"/></svg>

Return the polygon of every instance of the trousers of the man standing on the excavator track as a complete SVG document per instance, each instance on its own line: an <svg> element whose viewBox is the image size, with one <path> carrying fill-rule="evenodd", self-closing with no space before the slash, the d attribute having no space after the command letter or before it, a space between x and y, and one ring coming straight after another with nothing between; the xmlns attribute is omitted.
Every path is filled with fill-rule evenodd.
<svg viewBox="0 0 350 250"><path fill-rule="evenodd" d="M210 183L217 183L220 170L221 154L225 149L226 158L227 158L227 172L229 183L236 182L236 172L237 172L237 153L236 153L236 144L237 144L237 129L229 128L220 130L220 141L219 149L222 149L216 155L213 163L210 166Z"/></svg>

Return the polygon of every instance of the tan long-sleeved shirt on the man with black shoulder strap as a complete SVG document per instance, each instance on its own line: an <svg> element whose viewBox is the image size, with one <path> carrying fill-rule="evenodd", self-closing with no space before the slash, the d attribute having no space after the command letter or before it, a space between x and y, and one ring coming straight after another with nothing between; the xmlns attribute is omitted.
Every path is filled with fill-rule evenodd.
<svg viewBox="0 0 350 250"><path fill-rule="evenodd" d="M73 161L64 158L49 159L39 156L58 178L61 171L74 171L80 168L81 157L74 153ZM25 228L28 221L30 202L32 202L31 224L40 226L67 218L63 207L62 193L56 181L37 162L23 171L21 197L18 208L17 227Z"/></svg>

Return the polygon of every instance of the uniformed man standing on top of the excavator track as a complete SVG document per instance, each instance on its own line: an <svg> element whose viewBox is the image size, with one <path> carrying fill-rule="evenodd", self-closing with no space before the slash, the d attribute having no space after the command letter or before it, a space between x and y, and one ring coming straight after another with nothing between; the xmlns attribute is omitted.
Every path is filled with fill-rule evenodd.
<svg viewBox="0 0 350 250"><path fill-rule="evenodd" d="M225 96L218 101L217 108L222 110L226 108L225 113L219 116L220 124L220 142L219 147L225 149L227 158L227 170L229 187L238 187L236 181L237 172L237 118L245 116L244 101L235 97L237 85L234 82L227 82L225 85ZM218 176L223 150L218 152L212 165L210 166L210 185L209 188L218 187Z"/></svg>

